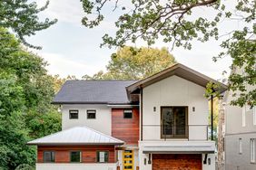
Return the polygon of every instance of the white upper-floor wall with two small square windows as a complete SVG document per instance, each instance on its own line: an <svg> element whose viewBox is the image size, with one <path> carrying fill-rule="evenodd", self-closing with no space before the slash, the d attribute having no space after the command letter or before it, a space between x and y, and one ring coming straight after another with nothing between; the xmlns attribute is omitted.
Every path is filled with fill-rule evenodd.
<svg viewBox="0 0 256 170"><path fill-rule="evenodd" d="M78 119L69 118L69 110L78 109ZM87 119L87 109L96 110L95 119ZM62 129L70 127L87 126L94 128L106 135L111 135L111 108L106 105L63 105L62 106Z"/></svg>

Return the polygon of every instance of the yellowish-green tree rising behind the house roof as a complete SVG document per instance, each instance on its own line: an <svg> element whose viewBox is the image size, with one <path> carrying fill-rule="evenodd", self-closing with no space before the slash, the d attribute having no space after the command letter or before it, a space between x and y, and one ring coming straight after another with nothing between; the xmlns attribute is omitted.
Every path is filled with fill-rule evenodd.
<svg viewBox="0 0 256 170"><path fill-rule="evenodd" d="M133 48L124 46L111 55L107 71L99 71L86 80L141 80L166 69L176 61L166 48Z"/></svg>

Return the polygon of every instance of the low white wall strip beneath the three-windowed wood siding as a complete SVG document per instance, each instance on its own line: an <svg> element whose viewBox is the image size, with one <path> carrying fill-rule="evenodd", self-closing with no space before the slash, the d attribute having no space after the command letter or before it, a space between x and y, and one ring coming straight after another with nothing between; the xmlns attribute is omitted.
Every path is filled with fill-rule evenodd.
<svg viewBox="0 0 256 170"><path fill-rule="evenodd" d="M36 164L36 170L116 170L116 163L108 164Z"/></svg>

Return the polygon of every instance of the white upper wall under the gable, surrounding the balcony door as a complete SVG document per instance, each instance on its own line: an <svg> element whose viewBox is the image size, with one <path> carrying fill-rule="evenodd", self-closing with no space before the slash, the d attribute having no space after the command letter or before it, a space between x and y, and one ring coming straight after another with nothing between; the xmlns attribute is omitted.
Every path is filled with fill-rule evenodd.
<svg viewBox="0 0 256 170"><path fill-rule="evenodd" d="M160 140L161 107L187 106L189 139L205 140L208 125L208 100L204 88L192 81L172 76L143 89L143 140ZM153 111L156 107L156 111ZM192 111L192 107L195 111ZM146 125L155 125L146 126ZM198 126L200 125L200 126Z"/></svg>

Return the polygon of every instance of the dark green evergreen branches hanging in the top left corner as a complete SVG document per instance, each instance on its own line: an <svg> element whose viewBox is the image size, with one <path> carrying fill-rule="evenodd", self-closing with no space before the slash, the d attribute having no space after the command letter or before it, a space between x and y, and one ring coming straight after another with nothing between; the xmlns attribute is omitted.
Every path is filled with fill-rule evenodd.
<svg viewBox="0 0 256 170"><path fill-rule="evenodd" d="M39 21L37 14L44 11L48 5L49 1L38 8L35 2L28 3L27 0L1 0L0 26L11 28L25 45L40 48L26 42L25 36L34 35L35 32L44 30L57 22L56 19L50 21L48 18L44 22Z"/></svg>

